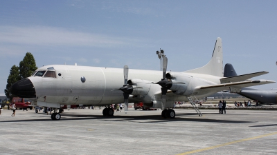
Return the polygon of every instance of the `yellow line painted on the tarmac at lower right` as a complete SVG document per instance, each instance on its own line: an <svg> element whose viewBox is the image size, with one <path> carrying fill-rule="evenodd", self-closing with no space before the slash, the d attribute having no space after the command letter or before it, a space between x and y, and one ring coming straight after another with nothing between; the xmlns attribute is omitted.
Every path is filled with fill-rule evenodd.
<svg viewBox="0 0 277 155"><path fill-rule="evenodd" d="M184 153L177 154L177 155L193 154L193 153L196 153L196 152L203 152L203 151L206 151L208 149L215 149L217 147L223 147L223 146L226 146L226 145L231 145L231 144L234 144L234 143L240 143L240 142L243 142L243 141L250 141L250 140L253 140L253 139L262 138L262 137L265 137L265 136L271 136L271 135L274 135L274 134L277 134L277 132L273 132L271 134L264 134L264 135L261 135L261 136L254 136L252 138L245 138L245 139L241 139L241 140L238 140L238 141L232 141L232 142L229 142L229 143L215 145L213 147L206 147L206 148L203 148L203 149L196 149L194 151L184 152Z"/></svg>

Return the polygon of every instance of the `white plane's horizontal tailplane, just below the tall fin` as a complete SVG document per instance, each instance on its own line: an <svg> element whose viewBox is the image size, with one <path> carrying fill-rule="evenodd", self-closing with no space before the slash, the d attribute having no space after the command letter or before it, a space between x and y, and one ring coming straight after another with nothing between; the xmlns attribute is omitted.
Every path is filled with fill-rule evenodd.
<svg viewBox="0 0 277 155"><path fill-rule="evenodd" d="M254 72L250 74L243 74L243 75L238 75L238 76L232 76L232 77L226 77L220 79L221 83L234 83L238 81L245 81L247 79L251 79L252 77L260 76L263 74L267 74L269 72L262 71L262 72Z"/></svg>

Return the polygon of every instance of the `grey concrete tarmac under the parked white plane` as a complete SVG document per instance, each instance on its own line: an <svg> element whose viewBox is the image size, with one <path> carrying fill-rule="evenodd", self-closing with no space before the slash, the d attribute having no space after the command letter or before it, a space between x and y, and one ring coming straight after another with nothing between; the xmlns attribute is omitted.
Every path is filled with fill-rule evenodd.
<svg viewBox="0 0 277 155"><path fill-rule="evenodd" d="M64 110L60 121L34 110L2 110L0 154L276 154L276 110Z"/></svg>

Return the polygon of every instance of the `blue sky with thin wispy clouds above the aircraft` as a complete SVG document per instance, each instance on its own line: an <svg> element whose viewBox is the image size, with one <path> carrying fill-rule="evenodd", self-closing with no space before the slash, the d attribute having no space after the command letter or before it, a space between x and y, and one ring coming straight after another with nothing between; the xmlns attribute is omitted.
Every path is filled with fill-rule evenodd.
<svg viewBox="0 0 277 155"><path fill-rule="evenodd" d="M0 94L26 52L51 64L168 71L206 65L217 37L223 63L277 81L277 1L0 1ZM270 90L276 83L253 88Z"/></svg>

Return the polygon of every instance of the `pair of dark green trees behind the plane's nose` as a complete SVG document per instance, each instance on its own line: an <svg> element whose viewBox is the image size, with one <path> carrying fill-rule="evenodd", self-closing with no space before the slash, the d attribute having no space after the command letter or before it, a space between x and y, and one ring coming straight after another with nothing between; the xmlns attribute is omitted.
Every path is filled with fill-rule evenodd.
<svg viewBox="0 0 277 155"><path fill-rule="evenodd" d="M24 59L20 61L19 66L12 65L5 89L5 94L8 99L10 99L10 101L12 101L13 97L16 97L10 94L10 87L12 86L12 84L21 79L25 79L31 76L32 73L35 72L35 70L37 70L37 65L35 63L35 58L33 54L31 54L30 52L26 53Z"/></svg>

